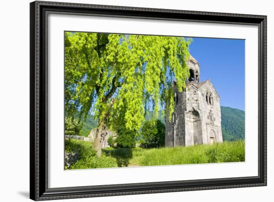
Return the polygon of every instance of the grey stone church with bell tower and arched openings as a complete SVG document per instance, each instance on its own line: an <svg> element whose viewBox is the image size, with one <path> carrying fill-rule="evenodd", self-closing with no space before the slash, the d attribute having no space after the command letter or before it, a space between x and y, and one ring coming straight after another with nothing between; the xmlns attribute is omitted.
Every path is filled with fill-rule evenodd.
<svg viewBox="0 0 274 202"><path fill-rule="evenodd" d="M165 118L165 146L223 142L220 96L209 79L200 82L200 65L190 56L190 76L182 92L174 81L175 112Z"/></svg>

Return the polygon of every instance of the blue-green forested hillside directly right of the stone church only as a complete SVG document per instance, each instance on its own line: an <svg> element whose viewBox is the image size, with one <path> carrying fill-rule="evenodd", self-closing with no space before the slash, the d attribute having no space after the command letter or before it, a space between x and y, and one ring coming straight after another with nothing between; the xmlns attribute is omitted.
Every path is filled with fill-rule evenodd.
<svg viewBox="0 0 274 202"><path fill-rule="evenodd" d="M245 139L245 112L230 107L221 107L222 135L227 141Z"/></svg>

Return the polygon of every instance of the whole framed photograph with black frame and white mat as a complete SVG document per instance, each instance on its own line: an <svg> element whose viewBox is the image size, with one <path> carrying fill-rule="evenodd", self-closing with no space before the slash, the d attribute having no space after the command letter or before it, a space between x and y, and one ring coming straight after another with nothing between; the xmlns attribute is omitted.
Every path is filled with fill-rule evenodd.
<svg viewBox="0 0 274 202"><path fill-rule="evenodd" d="M267 16L30 3L30 199L267 185Z"/></svg>

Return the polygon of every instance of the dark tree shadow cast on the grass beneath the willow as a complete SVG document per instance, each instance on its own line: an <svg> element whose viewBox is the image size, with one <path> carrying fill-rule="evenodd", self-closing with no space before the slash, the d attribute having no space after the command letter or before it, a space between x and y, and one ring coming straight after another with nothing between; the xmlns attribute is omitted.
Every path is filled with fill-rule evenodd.
<svg viewBox="0 0 274 202"><path fill-rule="evenodd" d="M133 157L132 148L104 149L104 152L107 156L116 158L118 167L128 167Z"/></svg>

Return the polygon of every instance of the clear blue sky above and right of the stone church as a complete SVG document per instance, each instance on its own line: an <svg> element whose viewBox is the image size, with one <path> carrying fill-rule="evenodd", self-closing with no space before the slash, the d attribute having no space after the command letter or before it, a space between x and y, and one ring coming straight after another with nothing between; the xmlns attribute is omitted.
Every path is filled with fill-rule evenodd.
<svg viewBox="0 0 274 202"><path fill-rule="evenodd" d="M245 40L192 39L189 50L200 64L200 81L211 80L221 106L245 110Z"/></svg>

